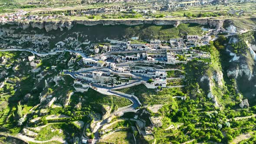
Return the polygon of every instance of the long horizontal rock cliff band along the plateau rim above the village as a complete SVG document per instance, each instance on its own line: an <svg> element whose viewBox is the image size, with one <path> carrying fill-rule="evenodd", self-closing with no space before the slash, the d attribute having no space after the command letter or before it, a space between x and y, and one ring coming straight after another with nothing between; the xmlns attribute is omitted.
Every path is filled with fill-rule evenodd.
<svg viewBox="0 0 256 144"><path fill-rule="evenodd" d="M33 28L39 28L39 29L46 29L46 31L50 30L56 30L60 29L63 30L63 28L71 29L71 27L74 24L83 24L85 26L93 26L97 24L102 25L128 25L128 26L134 26L134 25L140 25L140 24L155 24L155 25L173 25L177 27L181 23L197 23L201 25L210 25L211 27L214 27L216 29L220 29L223 25L223 20L212 20L212 19L187 19L187 20L75 20L75 21L49 21L49 22L43 22L43 21L31 21L31 22L8 22L8 23L0 23L0 25L10 24L10 25L16 25L17 28L26 29L29 26L32 26Z"/></svg>

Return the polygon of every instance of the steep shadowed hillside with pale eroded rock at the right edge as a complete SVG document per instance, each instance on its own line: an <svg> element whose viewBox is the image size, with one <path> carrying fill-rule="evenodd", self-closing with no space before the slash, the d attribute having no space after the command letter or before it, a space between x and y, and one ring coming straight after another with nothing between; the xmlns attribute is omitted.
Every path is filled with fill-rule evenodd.
<svg viewBox="0 0 256 144"><path fill-rule="evenodd" d="M226 80L231 80L236 93L248 98L250 104L256 102L256 53L251 47L255 44L253 35L255 32L231 37L233 46L230 44L222 52L222 70Z"/></svg>

